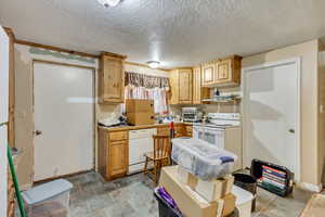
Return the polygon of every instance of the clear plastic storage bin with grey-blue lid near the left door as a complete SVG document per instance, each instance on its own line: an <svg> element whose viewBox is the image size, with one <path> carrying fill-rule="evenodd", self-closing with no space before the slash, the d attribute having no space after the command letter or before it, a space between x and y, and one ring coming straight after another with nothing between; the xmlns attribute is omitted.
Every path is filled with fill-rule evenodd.
<svg viewBox="0 0 325 217"><path fill-rule="evenodd" d="M69 192L73 184L58 179L24 191L28 217L68 217Z"/></svg>

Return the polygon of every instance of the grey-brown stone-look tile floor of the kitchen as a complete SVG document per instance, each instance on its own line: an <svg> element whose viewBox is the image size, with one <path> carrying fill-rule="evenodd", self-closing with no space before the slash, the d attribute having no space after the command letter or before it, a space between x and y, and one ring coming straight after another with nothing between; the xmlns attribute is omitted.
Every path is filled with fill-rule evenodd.
<svg viewBox="0 0 325 217"><path fill-rule="evenodd" d="M90 171L67 178L70 192L70 217L156 217L158 204L153 195L154 182L142 174L105 182ZM258 189L257 209L252 217L298 217L311 193L295 189L292 195L280 197Z"/></svg>

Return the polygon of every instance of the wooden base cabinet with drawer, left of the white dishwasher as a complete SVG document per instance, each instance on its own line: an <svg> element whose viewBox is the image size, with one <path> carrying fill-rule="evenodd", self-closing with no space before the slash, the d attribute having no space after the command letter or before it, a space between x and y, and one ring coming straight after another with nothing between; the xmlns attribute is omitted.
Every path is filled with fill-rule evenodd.
<svg viewBox="0 0 325 217"><path fill-rule="evenodd" d="M99 171L106 179L123 177L128 171L128 131L109 132L99 128Z"/></svg>

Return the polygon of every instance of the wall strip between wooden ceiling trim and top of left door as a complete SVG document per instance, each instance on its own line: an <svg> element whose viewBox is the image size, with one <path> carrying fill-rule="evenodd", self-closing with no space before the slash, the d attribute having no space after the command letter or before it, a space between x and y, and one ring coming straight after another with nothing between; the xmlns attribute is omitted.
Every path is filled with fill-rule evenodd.
<svg viewBox="0 0 325 217"><path fill-rule="evenodd" d="M74 61L80 61L84 63L95 63L94 59L91 58L82 58L80 55L74 55L69 53L63 53L63 52L57 52L57 51L51 51L51 50L46 50L46 49L39 49L35 47L29 48L29 53L31 54L39 54L39 55L52 55L54 58L58 59L65 59L65 60L74 60Z"/></svg>

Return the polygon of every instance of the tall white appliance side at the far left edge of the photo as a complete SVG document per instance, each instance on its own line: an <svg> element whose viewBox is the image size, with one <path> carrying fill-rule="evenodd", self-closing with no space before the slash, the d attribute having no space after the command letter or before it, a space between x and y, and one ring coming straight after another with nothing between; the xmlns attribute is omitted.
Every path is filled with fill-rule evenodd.
<svg viewBox="0 0 325 217"><path fill-rule="evenodd" d="M9 38L0 26L0 216L6 216L8 196Z"/></svg>

